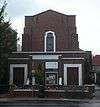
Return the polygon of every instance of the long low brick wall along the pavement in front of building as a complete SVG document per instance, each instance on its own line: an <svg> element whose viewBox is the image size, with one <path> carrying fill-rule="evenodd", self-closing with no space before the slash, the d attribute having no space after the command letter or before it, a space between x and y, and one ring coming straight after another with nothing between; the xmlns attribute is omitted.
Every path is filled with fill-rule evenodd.
<svg viewBox="0 0 100 107"><path fill-rule="evenodd" d="M94 93L93 85L64 86L60 89L45 89L39 91L34 88L14 89L12 96L47 97L47 98L92 98Z"/></svg>

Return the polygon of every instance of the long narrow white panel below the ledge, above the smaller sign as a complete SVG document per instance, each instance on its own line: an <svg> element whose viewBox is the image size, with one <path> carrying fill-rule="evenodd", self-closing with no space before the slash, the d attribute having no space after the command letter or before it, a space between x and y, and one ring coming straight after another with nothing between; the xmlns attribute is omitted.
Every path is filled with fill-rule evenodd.
<svg viewBox="0 0 100 107"><path fill-rule="evenodd" d="M44 59L58 59L59 55L33 55L32 59L44 60Z"/></svg>

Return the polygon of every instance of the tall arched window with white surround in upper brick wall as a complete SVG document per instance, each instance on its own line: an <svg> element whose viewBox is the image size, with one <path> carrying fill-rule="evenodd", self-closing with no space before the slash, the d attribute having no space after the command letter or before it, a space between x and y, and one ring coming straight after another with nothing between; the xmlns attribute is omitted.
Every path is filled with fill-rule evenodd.
<svg viewBox="0 0 100 107"><path fill-rule="evenodd" d="M55 34L52 31L46 32L45 35L45 52L55 52Z"/></svg>

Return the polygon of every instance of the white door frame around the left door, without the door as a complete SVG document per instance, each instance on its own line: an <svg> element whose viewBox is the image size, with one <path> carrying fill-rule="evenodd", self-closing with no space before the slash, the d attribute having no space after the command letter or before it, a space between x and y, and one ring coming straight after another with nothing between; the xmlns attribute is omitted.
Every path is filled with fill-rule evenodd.
<svg viewBox="0 0 100 107"><path fill-rule="evenodd" d="M27 64L10 64L10 81L9 84L13 84L13 68L14 67L24 67L24 84L26 84L27 81Z"/></svg>

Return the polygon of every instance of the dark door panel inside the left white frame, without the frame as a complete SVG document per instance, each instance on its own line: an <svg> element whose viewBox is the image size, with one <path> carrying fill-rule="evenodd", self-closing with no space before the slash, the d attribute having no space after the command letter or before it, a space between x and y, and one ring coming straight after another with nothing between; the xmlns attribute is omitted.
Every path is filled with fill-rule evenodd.
<svg viewBox="0 0 100 107"><path fill-rule="evenodd" d="M24 84L24 67L13 68L13 83L17 86Z"/></svg>

